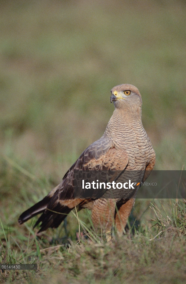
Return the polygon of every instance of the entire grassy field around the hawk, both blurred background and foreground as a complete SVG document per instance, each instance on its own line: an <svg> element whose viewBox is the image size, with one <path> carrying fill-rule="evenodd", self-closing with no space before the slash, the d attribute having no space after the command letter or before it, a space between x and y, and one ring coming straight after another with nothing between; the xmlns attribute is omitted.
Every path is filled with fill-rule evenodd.
<svg viewBox="0 0 186 284"><path fill-rule="evenodd" d="M184 1L0 2L0 263L39 268L0 282L186 283L182 201L136 200L113 245L86 211L40 237L17 223L103 134L118 84L142 95L156 169L185 169L185 15Z"/></svg>

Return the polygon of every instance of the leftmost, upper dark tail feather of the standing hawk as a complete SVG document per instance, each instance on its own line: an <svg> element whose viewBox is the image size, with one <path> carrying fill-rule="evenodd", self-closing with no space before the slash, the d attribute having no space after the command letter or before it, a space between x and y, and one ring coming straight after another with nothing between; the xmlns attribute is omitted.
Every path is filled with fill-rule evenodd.
<svg viewBox="0 0 186 284"><path fill-rule="evenodd" d="M20 224L23 224L30 218L32 218L35 215L38 215L39 213L42 213L46 208L49 203L50 197L46 196L43 198L41 201L33 205L31 208L28 210L24 211L21 215L20 218L18 219L18 222Z"/></svg>

